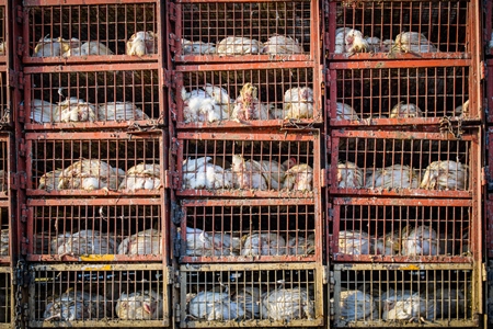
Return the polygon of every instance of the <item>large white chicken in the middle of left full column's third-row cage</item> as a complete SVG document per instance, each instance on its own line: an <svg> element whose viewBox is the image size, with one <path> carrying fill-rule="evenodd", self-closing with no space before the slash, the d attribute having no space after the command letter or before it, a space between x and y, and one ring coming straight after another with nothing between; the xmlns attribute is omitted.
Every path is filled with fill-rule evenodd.
<svg viewBox="0 0 493 329"><path fill-rule="evenodd" d="M67 167L59 177L57 190L116 190L125 175L104 161L82 159Z"/></svg>

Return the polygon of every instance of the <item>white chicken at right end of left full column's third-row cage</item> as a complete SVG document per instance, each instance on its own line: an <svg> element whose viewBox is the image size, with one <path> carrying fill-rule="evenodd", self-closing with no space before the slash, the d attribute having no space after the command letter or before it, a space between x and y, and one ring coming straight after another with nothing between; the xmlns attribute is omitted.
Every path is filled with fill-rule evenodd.
<svg viewBox="0 0 493 329"><path fill-rule="evenodd" d="M159 190L159 188L161 188L161 167L156 163L139 163L127 170L118 190Z"/></svg>

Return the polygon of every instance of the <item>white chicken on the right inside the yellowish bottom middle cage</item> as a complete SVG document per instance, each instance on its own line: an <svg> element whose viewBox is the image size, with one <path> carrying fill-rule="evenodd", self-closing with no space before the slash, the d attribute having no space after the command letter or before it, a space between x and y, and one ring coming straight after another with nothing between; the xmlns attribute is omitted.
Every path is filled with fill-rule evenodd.
<svg viewBox="0 0 493 329"><path fill-rule="evenodd" d="M314 318L314 306L306 288L276 288L262 300L262 316L277 321Z"/></svg>

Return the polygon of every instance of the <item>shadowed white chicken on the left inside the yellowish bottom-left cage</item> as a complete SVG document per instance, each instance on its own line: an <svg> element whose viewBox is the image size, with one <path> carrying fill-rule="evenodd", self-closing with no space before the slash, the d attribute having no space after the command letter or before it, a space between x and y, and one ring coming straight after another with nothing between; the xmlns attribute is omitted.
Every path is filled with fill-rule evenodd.
<svg viewBox="0 0 493 329"><path fill-rule="evenodd" d="M44 320L73 321L105 317L104 297L69 290L46 304Z"/></svg>

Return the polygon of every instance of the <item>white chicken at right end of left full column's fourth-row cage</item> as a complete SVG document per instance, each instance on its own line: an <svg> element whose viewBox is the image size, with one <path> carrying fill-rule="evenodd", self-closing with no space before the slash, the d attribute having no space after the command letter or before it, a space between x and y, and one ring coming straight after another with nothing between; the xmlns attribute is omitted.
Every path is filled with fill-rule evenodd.
<svg viewBox="0 0 493 329"><path fill-rule="evenodd" d="M161 232L146 229L125 238L118 246L118 254L161 254Z"/></svg>

